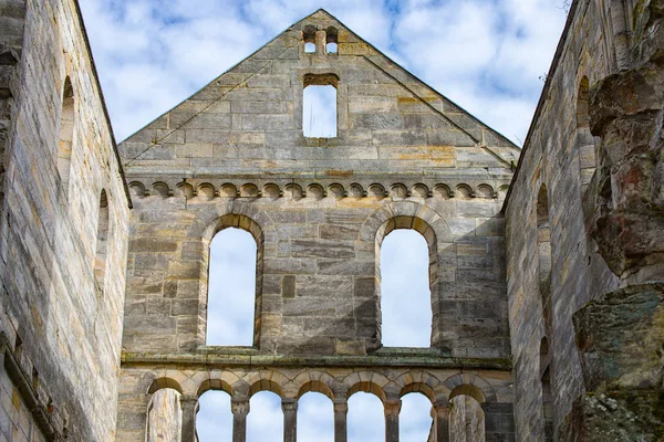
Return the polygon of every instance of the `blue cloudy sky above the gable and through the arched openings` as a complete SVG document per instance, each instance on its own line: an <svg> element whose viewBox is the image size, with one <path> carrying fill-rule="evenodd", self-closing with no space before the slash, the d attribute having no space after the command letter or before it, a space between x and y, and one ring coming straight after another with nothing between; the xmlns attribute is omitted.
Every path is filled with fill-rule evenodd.
<svg viewBox="0 0 664 442"><path fill-rule="evenodd" d="M324 8L390 57L461 107L521 145L532 118L556 44L564 0L80 0L102 87L118 141L174 107L270 41L291 23ZM417 302L428 303L426 251L415 232L393 232L382 254L384 274L415 275ZM210 304L210 341L250 344L256 256L252 239L234 230L215 240L211 298L226 309L221 320ZM424 241L422 240L422 243ZM424 246L425 248L425 246ZM398 253L395 253L398 251ZM400 261L401 259L401 261ZM408 272L404 265L412 266ZM390 272L401 266L400 272ZM215 276L217 275L217 276ZM383 320L386 345L426 345L430 318L400 306L393 293L405 282L385 276ZM228 280L226 280L228 281ZM243 282L242 282L243 281ZM214 283L211 281L211 283ZM215 285L215 284L211 284ZM400 288L402 287L402 288ZM228 292L224 292L227 288ZM247 301L248 299L248 301ZM228 314L232 308L232 314ZM424 324L424 327L417 327ZM281 410L272 393L251 400L249 441L281 440ZM230 441L225 393L201 398L201 442ZM423 397L407 394L401 413L402 441L423 441L430 419ZM383 412L371 394L350 400L350 440L384 440ZM299 407L299 440L332 441L332 406L319 393Z"/></svg>

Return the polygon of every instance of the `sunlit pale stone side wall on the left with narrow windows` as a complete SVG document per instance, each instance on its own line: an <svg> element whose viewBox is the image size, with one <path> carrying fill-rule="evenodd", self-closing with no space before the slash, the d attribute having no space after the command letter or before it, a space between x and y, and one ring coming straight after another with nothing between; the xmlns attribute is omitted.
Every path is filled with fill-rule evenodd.
<svg viewBox="0 0 664 442"><path fill-rule="evenodd" d="M19 2L9 3L2 14L13 13ZM3 41L2 32L14 30L1 29ZM128 200L75 2L27 1L22 41L0 220L0 394L3 404L15 407L0 410L0 420L11 422L2 432L18 440L12 432L29 425L48 439L66 432L70 440L111 441ZM68 75L75 106L65 186L58 152ZM93 263L102 189L108 197L106 274L112 276L98 285ZM31 415L21 412L21 402Z"/></svg>

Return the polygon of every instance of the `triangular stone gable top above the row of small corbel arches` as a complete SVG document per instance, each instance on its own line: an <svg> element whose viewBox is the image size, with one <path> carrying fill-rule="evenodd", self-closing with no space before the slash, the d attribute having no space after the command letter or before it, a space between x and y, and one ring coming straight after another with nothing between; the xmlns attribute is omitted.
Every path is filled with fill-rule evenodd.
<svg viewBox="0 0 664 442"><path fill-rule="evenodd" d="M305 27L334 29L338 54L305 54ZM315 74L339 77L336 138L302 135L302 78ZM121 151L128 170L158 165L180 175L247 175L269 164L289 175L304 165L357 173L510 169L520 149L318 10L134 134Z"/></svg>

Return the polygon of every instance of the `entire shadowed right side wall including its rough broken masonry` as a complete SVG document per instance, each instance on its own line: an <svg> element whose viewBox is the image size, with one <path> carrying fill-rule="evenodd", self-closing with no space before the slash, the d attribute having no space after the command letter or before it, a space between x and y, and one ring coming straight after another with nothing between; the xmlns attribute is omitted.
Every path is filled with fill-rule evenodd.
<svg viewBox="0 0 664 442"><path fill-rule="evenodd" d="M519 440L664 434L661 3L573 2L508 194Z"/></svg>

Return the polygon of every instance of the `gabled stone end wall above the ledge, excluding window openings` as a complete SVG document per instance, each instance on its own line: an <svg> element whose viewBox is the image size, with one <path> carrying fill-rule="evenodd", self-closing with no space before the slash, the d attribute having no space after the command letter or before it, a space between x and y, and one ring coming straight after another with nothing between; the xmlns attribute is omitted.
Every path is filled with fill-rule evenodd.
<svg viewBox="0 0 664 442"><path fill-rule="evenodd" d="M330 29L339 53L323 50ZM302 135L302 90L317 81L338 91L335 138ZM324 11L120 148L136 196L127 351L205 344L209 241L239 225L259 245L261 351L378 348L378 246L406 228L429 243L432 345L509 354L498 197L518 148Z"/></svg>

